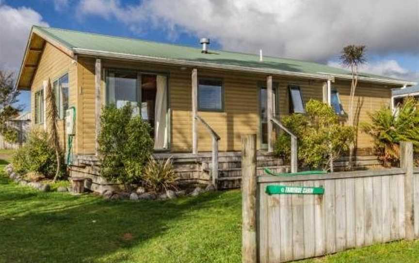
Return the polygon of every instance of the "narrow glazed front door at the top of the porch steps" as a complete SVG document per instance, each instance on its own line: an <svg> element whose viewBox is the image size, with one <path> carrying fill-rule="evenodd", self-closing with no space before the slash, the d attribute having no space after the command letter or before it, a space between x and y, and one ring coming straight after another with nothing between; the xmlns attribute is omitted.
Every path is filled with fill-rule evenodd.
<svg viewBox="0 0 419 263"><path fill-rule="evenodd" d="M268 114L267 114L267 96L266 86L259 89L259 119L260 119L260 148L268 148ZM276 87L272 88L272 112L275 112L276 106Z"/></svg>

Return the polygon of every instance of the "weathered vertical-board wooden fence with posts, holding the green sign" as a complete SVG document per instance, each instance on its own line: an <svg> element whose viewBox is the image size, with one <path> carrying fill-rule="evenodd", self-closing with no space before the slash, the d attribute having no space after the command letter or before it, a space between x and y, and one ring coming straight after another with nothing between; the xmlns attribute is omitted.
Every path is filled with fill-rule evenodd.
<svg viewBox="0 0 419 263"><path fill-rule="evenodd" d="M243 145L256 146L254 140L245 137ZM243 262L287 262L419 238L419 169L412 144L401 148L402 168L282 177L256 177L249 169L253 150L243 149ZM268 185L322 187L324 194L268 195Z"/></svg>

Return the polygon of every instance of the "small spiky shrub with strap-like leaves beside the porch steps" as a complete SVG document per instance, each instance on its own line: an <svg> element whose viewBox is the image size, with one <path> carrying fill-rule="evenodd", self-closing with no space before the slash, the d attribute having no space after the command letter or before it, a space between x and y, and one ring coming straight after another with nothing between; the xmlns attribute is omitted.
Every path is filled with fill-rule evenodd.
<svg viewBox="0 0 419 263"><path fill-rule="evenodd" d="M176 189L176 174L172 164L172 158L157 160L150 156L145 166L143 181L153 191L166 191L169 188Z"/></svg>

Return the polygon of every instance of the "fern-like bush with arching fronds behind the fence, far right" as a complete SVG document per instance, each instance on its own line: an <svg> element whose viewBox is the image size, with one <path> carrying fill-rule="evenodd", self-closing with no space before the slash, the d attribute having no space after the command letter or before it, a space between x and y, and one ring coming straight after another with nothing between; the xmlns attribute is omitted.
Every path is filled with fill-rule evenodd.
<svg viewBox="0 0 419 263"><path fill-rule="evenodd" d="M419 102L407 98L398 113L389 107L370 113L371 122L361 123L362 130L374 138L374 150L380 160L392 165L399 163L401 141L412 142L419 153Z"/></svg>

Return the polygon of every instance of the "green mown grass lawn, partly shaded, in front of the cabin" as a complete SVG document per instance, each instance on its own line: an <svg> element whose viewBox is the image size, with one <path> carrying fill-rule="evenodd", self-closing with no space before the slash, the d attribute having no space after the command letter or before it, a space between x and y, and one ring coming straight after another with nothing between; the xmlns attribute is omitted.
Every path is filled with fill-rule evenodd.
<svg viewBox="0 0 419 263"><path fill-rule="evenodd" d="M241 262L240 191L107 201L19 186L2 173L6 163L0 161L0 263ZM419 242L394 242L304 262L418 259Z"/></svg>

